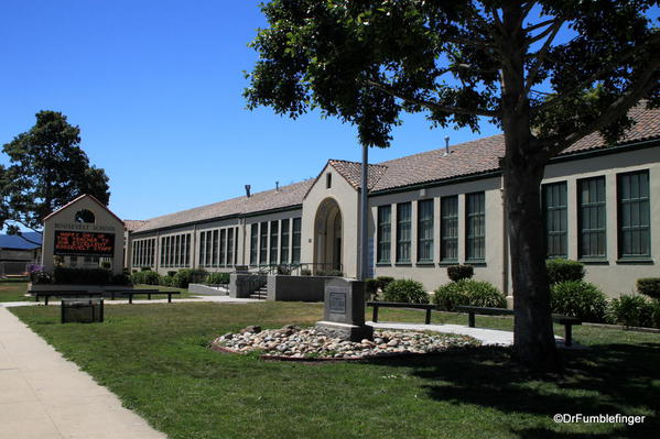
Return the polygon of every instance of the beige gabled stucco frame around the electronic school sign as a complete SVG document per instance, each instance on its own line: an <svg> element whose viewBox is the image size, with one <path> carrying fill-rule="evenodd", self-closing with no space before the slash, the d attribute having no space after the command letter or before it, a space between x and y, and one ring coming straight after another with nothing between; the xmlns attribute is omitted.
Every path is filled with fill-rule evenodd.
<svg viewBox="0 0 660 439"><path fill-rule="evenodd" d="M76 212L83 209L87 209L94 213L94 223L75 221ZM117 219L117 217L105 207L100 206L91 197L82 197L77 199L59 209L44 221L42 265L46 272L53 271L53 251L55 246L56 230L113 233L115 248L112 272L115 274L121 274L123 271L123 222Z"/></svg>

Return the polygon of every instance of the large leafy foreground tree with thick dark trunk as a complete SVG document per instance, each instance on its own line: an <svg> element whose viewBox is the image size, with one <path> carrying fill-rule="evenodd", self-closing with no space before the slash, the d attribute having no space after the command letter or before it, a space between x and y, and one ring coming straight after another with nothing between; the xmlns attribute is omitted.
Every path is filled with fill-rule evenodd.
<svg viewBox="0 0 660 439"><path fill-rule="evenodd" d="M505 136L515 348L556 365L540 185L550 158L599 131L614 142L640 99L660 105L660 32L635 0L272 0L252 43L248 108L310 109L388 146L401 112L432 127L488 119Z"/></svg>

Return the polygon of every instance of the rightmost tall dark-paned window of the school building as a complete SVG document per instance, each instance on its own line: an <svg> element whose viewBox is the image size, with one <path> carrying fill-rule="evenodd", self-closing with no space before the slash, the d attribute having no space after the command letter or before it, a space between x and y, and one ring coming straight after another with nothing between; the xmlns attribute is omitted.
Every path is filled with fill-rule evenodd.
<svg viewBox="0 0 660 439"><path fill-rule="evenodd" d="M649 257L649 172L619 174L617 179L619 257Z"/></svg>

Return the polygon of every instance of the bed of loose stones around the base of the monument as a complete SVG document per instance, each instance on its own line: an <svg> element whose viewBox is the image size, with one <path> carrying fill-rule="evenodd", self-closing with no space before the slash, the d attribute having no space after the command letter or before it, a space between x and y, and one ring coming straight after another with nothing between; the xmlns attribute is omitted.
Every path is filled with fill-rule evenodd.
<svg viewBox="0 0 660 439"><path fill-rule="evenodd" d="M426 354L479 344L468 336L381 329L375 331L374 341L351 342L327 337L314 328L289 325L264 331L247 327L239 333L218 337L212 347L229 353L260 352L264 360L320 361Z"/></svg>

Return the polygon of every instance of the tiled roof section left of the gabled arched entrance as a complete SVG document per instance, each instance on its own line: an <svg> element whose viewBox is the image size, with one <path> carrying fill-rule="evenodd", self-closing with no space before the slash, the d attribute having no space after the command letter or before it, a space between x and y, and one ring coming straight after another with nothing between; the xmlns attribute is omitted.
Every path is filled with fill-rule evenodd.
<svg viewBox="0 0 660 439"><path fill-rule="evenodd" d="M282 186L279 189L264 190L250 195L250 197L237 197L212 205L182 210L175 213L164 215L147 220L136 232L167 227L201 222L237 215L249 215L273 209L293 207L303 202L303 197L312 185L313 179Z"/></svg>

